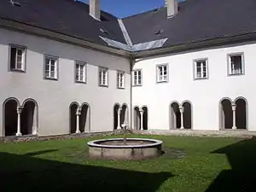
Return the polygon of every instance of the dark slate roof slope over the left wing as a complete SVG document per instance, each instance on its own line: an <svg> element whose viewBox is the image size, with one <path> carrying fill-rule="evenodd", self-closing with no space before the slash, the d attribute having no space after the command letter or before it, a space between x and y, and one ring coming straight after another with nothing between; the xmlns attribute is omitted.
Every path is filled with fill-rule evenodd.
<svg viewBox="0 0 256 192"><path fill-rule="evenodd" d="M125 44L117 18L102 11L102 21L95 20L89 15L88 4L73 0L14 1L20 3L20 7L12 5L10 0L0 0L0 18L39 26L96 44L106 45L99 36ZM101 32L101 28L105 33Z"/></svg>

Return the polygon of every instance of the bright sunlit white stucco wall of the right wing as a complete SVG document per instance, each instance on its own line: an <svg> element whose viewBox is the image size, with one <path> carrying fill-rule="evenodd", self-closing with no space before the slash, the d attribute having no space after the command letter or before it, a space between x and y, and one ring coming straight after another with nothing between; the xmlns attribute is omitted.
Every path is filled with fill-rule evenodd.
<svg viewBox="0 0 256 192"><path fill-rule="evenodd" d="M243 98L247 102L247 130L256 131L255 49L255 42L251 42L138 59L133 70L142 69L143 85L132 87L132 106L148 107L149 130L168 130L172 129L171 103L189 101L191 128L218 131L221 129L221 100L229 98L236 102L236 98ZM243 54L244 74L228 74L228 55L234 53ZM194 60L202 58L207 58L208 78L197 80ZM168 65L166 83L156 83L159 64Z"/></svg>

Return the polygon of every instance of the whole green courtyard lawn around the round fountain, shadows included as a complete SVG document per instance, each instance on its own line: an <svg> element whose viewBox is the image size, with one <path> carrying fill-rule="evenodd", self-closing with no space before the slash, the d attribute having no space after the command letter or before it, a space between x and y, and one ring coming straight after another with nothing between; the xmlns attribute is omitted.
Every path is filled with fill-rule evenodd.
<svg viewBox="0 0 256 192"><path fill-rule="evenodd" d="M150 138L165 154L142 161L90 160L86 143L98 137L2 143L0 191L256 191L256 139Z"/></svg>

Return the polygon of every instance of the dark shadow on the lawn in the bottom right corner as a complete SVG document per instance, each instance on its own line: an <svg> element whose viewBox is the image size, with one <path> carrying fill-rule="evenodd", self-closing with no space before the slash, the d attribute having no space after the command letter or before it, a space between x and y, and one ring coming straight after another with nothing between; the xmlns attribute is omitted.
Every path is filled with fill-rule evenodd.
<svg viewBox="0 0 256 192"><path fill-rule="evenodd" d="M256 191L256 137L212 153L225 154L232 169L220 172L206 192Z"/></svg>

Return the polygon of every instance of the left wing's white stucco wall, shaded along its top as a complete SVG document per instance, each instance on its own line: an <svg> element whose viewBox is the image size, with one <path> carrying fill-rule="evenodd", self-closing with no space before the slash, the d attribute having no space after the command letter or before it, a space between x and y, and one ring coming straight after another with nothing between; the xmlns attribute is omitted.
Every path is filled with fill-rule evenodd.
<svg viewBox="0 0 256 192"><path fill-rule="evenodd" d="M26 46L26 73L9 71L9 44ZM58 80L44 79L44 55L58 59ZM64 44L0 28L0 136L4 136L3 103L15 97L20 106L32 98L38 104L38 135L70 132L72 102L88 103L87 131L113 131L113 106L131 106L130 60L93 49ZM86 84L75 83L74 61L87 63ZM108 67L108 87L99 86L98 67ZM125 72L125 89L117 89L117 70ZM130 115L129 115L130 116Z"/></svg>

